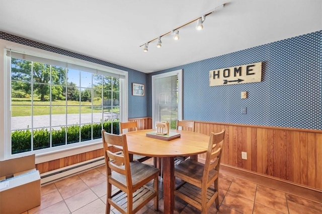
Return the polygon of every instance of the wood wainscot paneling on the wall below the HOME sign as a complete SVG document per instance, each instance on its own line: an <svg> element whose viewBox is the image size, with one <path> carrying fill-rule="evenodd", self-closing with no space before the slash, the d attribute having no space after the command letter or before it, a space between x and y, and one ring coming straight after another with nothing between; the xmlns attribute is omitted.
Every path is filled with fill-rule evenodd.
<svg viewBox="0 0 322 214"><path fill-rule="evenodd" d="M196 122L195 132L225 129L221 162L322 189L322 131ZM247 160L241 159L247 152ZM205 155L199 155L205 159Z"/></svg>

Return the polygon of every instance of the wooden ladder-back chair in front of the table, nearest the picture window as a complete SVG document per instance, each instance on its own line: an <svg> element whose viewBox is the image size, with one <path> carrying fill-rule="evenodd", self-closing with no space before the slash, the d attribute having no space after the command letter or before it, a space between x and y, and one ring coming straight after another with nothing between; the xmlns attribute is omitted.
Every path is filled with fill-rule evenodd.
<svg viewBox="0 0 322 214"><path fill-rule="evenodd" d="M106 213L110 213L111 205L121 213L135 213L152 198L157 210L159 169L138 161L130 162L125 134L102 130L102 139L107 171ZM123 152L112 152L113 147L122 148ZM153 187L147 185L151 180ZM112 185L119 189L113 195Z"/></svg>

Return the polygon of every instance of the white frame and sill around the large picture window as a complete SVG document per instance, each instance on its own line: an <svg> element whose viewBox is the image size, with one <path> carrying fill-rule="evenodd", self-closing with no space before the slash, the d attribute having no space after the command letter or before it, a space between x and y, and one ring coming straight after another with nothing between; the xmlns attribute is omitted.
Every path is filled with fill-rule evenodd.
<svg viewBox="0 0 322 214"><path fill-rule="evenodd" d="M113 73L115 75L125 76L120 78L120 121L128 120L128 72L107 67L104 65L76 59L53 52L29 47L0 39L0 160L12 159L36 154L36 164L46 162L66 156L71 156L87 151L102 148L101 139L83 141L75 144L51 147L46 149L34 150L18 154L11 154L11 60L6 56L7 50L14 50L33 56L63 61L91 69L97 69L103 72ZM7 143L6 143L7 142Z"/></svg>

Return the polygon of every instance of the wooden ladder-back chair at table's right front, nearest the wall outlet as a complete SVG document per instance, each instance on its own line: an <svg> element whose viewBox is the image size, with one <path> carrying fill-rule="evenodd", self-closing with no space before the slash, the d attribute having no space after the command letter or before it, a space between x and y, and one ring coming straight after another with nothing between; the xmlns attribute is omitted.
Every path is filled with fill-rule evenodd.
<svg viewBox="0 0 322 214"><path fill-rule="evenodd" d="M175 177L182 180L176 186L175 195L200 209L201 213L207 213L214 201L219 209L218 175L224 134L224 129L210 133L205 164L189 158L175 166Z"/></svg>

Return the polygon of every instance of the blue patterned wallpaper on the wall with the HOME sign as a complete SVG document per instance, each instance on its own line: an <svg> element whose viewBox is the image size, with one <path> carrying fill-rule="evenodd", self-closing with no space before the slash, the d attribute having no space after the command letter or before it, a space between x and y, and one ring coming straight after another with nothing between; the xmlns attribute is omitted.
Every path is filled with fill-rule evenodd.
<svg viewBox="0 0 322 214"><path fill-rule="evenodd" d="M256 62L263 62L262 82L209 86L210 70ZM154 72L149 88L152 75L179 69L185 120L322 129L322 31Z"/></svg>

